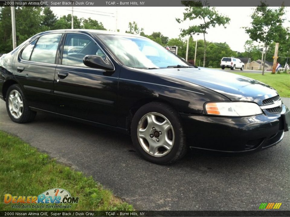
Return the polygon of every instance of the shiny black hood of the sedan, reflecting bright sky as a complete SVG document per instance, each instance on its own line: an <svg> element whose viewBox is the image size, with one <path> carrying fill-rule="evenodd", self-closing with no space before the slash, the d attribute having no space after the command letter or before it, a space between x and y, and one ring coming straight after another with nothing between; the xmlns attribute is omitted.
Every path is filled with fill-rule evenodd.
<svg viewBox="0 0 290 217"><path fill-rule="evenodd" d="M251 101L262 105L264 99L278 95L269 85L257 80L207 68L151 69L160 76L184 80L216 91L232 101ZM245 73L247 75L247 73Z"/></svg>

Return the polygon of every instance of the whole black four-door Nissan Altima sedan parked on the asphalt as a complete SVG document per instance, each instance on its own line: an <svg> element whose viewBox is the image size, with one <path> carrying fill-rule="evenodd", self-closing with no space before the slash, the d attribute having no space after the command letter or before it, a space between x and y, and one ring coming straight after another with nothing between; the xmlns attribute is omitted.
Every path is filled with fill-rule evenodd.
<svg viewBox="0 0 290 217"><path fill-rule="evenodd" d="M192 66L155 42L99 30L39 33L0 58L12 121L48 112L127 132L143 158L188 147L251 153L279 143L289 110L272 87Z"/></svg>

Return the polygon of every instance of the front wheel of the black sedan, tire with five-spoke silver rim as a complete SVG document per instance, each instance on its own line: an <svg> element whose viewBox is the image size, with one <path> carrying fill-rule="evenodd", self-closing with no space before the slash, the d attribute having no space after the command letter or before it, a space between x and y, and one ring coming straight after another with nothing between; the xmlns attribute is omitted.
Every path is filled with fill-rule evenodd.
<svg viewBox="0 0 290 217"><path fill-rule="evenodd" d="M179 114L163 102L139 108L132 119L131 138L137 152L156 164L176 162L188 149Z"/></svg>

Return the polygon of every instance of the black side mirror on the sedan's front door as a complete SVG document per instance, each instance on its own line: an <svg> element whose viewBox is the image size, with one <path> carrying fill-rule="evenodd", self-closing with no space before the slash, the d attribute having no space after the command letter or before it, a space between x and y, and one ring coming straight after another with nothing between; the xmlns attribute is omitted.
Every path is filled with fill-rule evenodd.
<svg viewBox="0 0 290 217"><path fill-rule="evenodd" d="M98 55L86 55L82 61L86 66L91 68L101 68L108 71L114 70L114 65L108 60L108 58L104 60Z"/></svg>

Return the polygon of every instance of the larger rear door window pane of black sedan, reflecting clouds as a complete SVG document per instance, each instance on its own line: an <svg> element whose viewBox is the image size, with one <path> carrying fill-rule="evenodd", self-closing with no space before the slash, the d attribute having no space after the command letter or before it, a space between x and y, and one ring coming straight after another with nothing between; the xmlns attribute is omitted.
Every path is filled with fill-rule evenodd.
<svg viewBox="0 0 290 217"><path fill-rule="evenodd" d="M31 61L54 63L62 33L41 36L31 54Z"/></svg>

